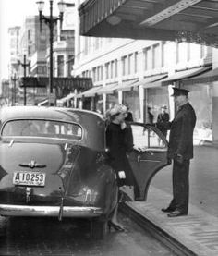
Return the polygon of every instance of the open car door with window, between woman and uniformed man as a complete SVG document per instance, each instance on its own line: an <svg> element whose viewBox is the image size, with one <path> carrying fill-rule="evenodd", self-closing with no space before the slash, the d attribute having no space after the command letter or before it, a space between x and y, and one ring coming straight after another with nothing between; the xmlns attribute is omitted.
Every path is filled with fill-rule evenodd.
<svg viewBox="0 0 218 256"><path fill-rule="evenodd" d="M152 177L165 165L167 160L167 140L157 128L142 123L131 124L134 150L128 154L137 185L139 198L146 201Z"/></svg>

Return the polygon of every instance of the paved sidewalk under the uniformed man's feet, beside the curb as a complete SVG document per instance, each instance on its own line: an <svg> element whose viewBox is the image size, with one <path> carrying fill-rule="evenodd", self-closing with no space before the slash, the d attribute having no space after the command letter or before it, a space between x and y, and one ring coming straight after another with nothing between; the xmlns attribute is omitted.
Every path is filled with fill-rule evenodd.
<svg viewBox="0 0 218 256"><path fill-rule="evenodd" d="M193 254L218 255L218 149L196 147L190 165L188 216L167 217L161 211L172 200L172 165L154 177L146 202L127 202L128 206L182 243ZM158 177L159 176L159 177ZM156 178L156 179L155 179Z"/></svg>

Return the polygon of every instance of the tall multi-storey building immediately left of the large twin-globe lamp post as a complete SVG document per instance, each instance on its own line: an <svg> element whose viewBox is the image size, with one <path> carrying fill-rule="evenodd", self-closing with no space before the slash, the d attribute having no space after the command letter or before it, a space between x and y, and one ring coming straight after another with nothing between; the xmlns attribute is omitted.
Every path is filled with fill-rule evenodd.
<svg viewBox="0 0 218 256"><path fill-rule="evenodd" d="M26 76L46 76L46 49L49 44L49 28L42 23L40 29L40 20L38 16L28 16L25 18L19 41L19 61L24 63L24 55L26 56L26 64L29 66L19 66L19 77L24 76L24 68L26 68ZM57 32L55 28L55 38ZM37 104L38 101L44 99L47 90L44 88L27 88L27 104Z"/></svg>

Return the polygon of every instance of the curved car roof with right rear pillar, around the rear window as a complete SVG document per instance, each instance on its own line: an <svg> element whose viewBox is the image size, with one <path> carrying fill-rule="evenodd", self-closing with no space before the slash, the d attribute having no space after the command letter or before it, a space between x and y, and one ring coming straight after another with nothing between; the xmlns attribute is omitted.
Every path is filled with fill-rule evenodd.
<svg viewBox="0 0 218 256"><path fill-rule="evenodd" d="M0 128L9 120L45 119L78 123L84 132L80 144L102 151L105 147L103 116L88 110L66 107L9 106L0 109Z"/></svg>

